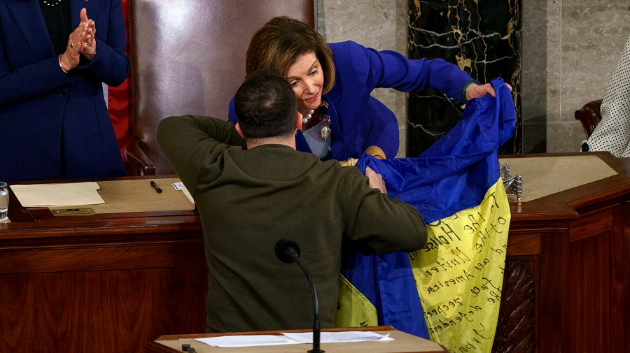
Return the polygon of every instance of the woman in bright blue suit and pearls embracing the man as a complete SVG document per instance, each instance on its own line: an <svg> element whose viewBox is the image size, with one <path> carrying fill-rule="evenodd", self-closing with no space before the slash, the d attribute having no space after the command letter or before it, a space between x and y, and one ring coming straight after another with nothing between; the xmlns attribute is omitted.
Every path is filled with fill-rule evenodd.
<svg viewBox="0 0 630 353"><path fill-rule="evenodd" d="M395 157L398 121L370 95L374 88L420 92L431 87L459 101L494 95L491 85L479 85L442 59L407 59L353 41L327 44L307 24L288 17L273 18L251 38L246 74L259 69L276 69L293 87L304 117L295 136L297 150L321 159L356 158L371 146ZM237 122L233 100L229 118Z"/></svg>

